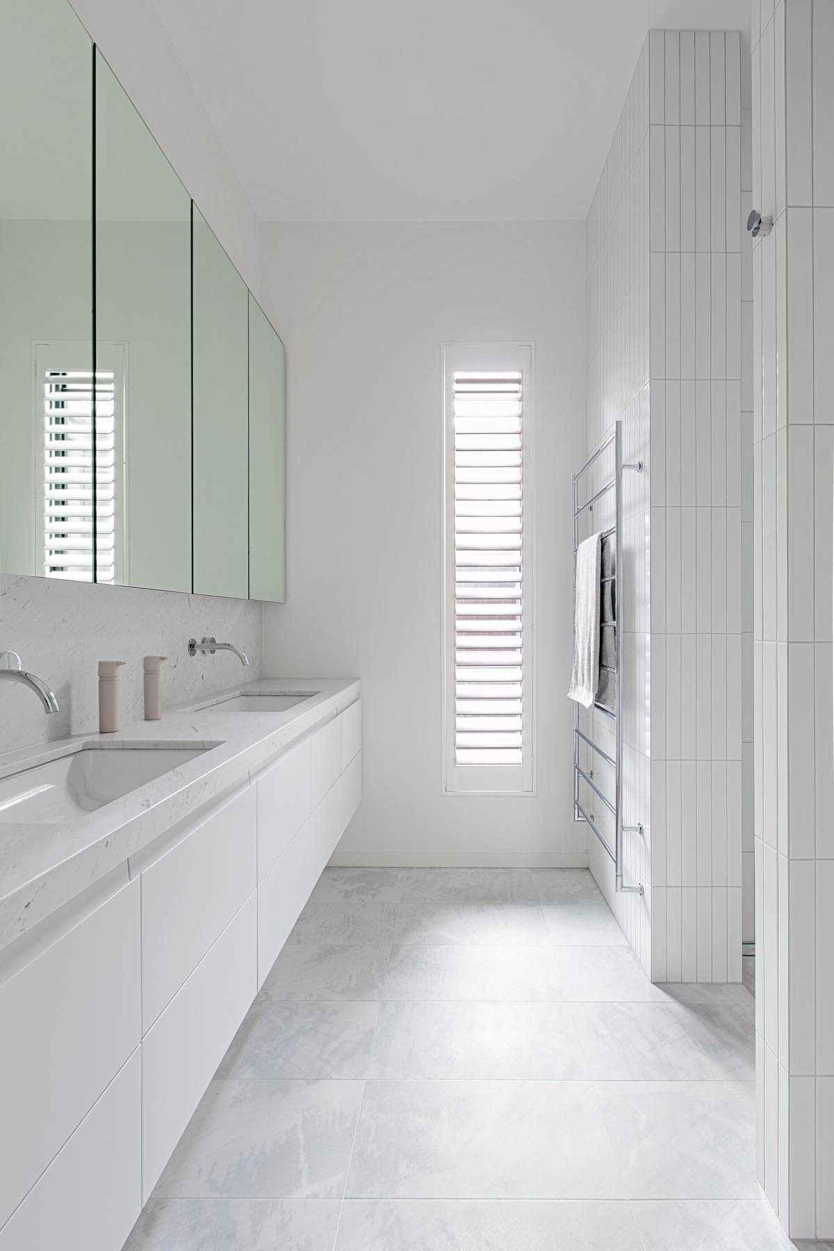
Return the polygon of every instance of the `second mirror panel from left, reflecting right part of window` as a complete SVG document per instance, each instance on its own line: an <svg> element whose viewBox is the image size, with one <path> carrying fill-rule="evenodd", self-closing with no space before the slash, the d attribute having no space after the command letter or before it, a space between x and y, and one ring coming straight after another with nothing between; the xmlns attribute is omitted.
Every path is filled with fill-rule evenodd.
<svg viewBox="0 0 834 1251"><path fill-rule="evenodd" d="M191 589L191 199L95 54L96 580Z"/></svg>

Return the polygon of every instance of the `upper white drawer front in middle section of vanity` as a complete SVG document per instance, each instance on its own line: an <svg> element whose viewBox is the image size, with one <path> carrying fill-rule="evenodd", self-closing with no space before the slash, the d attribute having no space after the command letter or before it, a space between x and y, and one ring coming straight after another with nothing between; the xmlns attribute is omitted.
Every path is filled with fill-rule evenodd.
<svg viewBox="0 0 834 1251"><path fill-rule="evenodd" d="M255 888L255 787L141 873L143 1035Z"/></svg>

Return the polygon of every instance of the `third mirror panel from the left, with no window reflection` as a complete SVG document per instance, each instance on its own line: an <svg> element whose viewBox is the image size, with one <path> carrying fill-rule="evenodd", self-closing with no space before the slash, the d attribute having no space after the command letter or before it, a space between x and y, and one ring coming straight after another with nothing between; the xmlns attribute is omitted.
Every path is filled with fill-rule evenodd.
<svg viewBox="0 0 834 1251"><path fill-rule="evenodd" d="M249 597L249 290L193 205L194 590Z"/></svg>

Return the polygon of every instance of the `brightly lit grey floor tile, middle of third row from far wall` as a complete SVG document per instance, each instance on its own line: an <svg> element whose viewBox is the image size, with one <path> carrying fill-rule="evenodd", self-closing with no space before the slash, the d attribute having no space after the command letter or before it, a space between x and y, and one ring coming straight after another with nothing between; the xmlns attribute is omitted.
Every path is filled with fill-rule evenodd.
<svg viewBox="0 0 834 1251"><path fill-rule="evenodd" d="M386 1000L564 1000L553 947L393 947Z"/></svg>

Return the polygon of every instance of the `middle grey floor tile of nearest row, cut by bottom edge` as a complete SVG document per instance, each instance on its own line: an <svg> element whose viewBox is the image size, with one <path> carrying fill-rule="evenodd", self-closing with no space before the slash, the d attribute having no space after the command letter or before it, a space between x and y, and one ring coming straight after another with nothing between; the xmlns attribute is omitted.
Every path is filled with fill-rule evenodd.
<svg viewBox="0 0 834 1251"><path fill-rule="evenodd" d="M346 1200L335 1251L641 1251L628 1203Z"/></svg>

